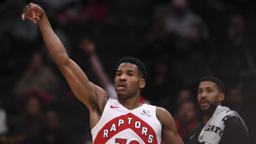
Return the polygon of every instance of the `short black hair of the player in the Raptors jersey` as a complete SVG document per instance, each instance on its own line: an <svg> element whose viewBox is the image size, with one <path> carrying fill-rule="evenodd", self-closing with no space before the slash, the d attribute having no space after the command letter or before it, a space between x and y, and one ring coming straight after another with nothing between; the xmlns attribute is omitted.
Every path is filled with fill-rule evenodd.
<svg viewBox="0 0 256 144"><path fill-rule="evenodd" d="M117 62L116 70L119 67L119 65L121 65L124 62L129 62L134 65L137 65L137 67L139 68L139 72L142 73L142 78L146 79L146 77L147 77L146 66L144 65L144 63L141 60L139 60L135 57L123 57L121 60L119 60L119 62Z"/></svg>

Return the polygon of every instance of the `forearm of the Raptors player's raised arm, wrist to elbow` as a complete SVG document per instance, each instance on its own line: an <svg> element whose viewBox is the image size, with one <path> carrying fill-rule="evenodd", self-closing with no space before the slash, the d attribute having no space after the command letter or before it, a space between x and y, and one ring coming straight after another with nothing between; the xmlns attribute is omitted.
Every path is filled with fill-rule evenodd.
<svg viewBox="0 0 256 144"><path fill-rule="evenodd" d="M63 43L61 43L58 36L54 33L53 28L51 28L46 13L43 13L41 20L38 21L38 25L51 57L53 57L53 60L58 66L64 65L69 60L68 54Z"/></svg>

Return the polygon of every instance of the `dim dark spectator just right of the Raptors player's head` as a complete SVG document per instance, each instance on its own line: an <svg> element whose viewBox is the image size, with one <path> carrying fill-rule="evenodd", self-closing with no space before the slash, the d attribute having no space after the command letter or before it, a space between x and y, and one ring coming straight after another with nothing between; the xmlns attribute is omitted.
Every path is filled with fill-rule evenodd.
<svg viewBox="0 0 256 144"><path fill-rule="evenodd" d="M151 97L154 104L164 107L174 116L175 84L170 81L169 60L166 57L155 57L151 62L151 77L149 77L146 96Z"/></svg>

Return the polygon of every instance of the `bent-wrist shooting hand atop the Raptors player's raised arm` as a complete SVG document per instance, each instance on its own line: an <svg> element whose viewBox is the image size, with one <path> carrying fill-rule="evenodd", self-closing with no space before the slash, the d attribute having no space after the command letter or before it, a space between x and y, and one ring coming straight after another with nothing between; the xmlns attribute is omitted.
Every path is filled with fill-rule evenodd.
<svg viewBox="0 0 256 144"><path fill-rule="evenodd" d="M43 9L40 6L30 3L25 8L25 13L22 14L21 18L24 21L25 18L28 18L33 23L40 21L41 16L43 16Z"/></svg>

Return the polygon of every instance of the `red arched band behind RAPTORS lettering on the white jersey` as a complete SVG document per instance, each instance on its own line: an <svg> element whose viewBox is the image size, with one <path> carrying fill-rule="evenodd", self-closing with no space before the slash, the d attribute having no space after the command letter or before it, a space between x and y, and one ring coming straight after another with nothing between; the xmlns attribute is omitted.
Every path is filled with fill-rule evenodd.
<svg viewBox="0 0 256 144"><path fill-rule="evenodd" d="M128 118L132 118L132 120L130 121L130 124L129 124ZM121 124L120 126L118 126L119 119L124 120L124 123ZM140 128L135 128L136 121L139 121L141 123ZM117 131L110 132L110 129L111 129L113 123L115 123ZM142 135L142 127L147 128L146 135ZM117 118L112 119L108 123L106 123L105 126L103 126L102 129L97 133L94 143L95 144L106 143L114 135L116 135L117 133L124 131L125 129L128 129L128 128L131 129L132 131L134 131L135 133L137 133L137 135L139 135L139 137L142 138L144 143L149 143L148 142L149 135L153 135L154 138L153 138L152 144L157 144L157 138L156 138L156 133L155 133L154 129L151 128L151 126L149 126L148 123L146 123L145 121L138 118L137 116L135 116L132 113L127 113L125 115L119 116ZM105 129L107 129L109 131L107 134L108 135L107 138L103 138Z"/></svg>

